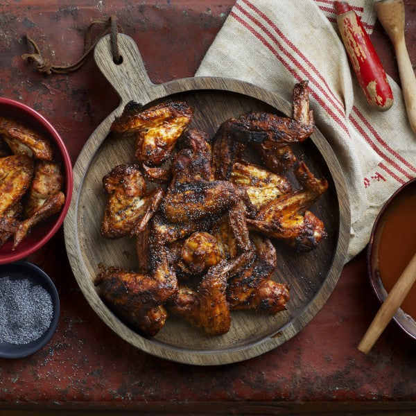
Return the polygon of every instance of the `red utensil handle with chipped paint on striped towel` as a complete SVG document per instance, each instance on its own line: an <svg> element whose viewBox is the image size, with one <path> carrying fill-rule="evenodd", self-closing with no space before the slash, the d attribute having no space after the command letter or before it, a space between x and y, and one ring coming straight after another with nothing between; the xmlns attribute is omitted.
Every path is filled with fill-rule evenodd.
<svg viewBox="0 0 416 416"><path fill-rule="evenodd" d="M349 61L368 102L377 110L388 110L393 104L392 89L361 19L345 1L333 5Z"/></svg>

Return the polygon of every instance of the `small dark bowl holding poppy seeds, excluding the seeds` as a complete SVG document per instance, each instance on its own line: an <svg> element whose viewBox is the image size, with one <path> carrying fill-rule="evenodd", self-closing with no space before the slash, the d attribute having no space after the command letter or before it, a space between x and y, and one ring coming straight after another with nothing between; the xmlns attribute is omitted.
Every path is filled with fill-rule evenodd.
<svg viewBox="0 0 416 416"><path fill-rule="evenodd" d="M10 280L28 279L35 285L42 286L50 295L53 305L53 314L49 328L37 340L31 343L14 345L0 343L0 358L22 358L37 352L52 338L60 313L58 292L53 281L46 273L27 261L16 261L15 263L0 266L0 278L9 277Z"/></svg>

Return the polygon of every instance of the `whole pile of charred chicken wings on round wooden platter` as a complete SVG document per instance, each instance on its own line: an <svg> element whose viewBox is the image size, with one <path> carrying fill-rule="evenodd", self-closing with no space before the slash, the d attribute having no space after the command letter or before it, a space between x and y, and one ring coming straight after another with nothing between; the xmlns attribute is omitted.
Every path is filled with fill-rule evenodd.
<svg viewBox="0 0 416 416"><path fill-rule="evenodd" d="M168 313L218 336L229 330L232 310L283 311L289 287L272 279L277 256L270 238L309 251L326 236L307 209L327 180L314 177L291 148L313 132L307 81L293 89L293 119L249 112L210 138L188 129L192 116L187 103L143 110L130 102L111 127L135 135L138 162L103 177L101 234L134 237L139 264L134 271L103 268L95 284L145 336L155 336ZM266 167L245 161L248 146ZM150 182L158 186L150 190Z"/></svg>

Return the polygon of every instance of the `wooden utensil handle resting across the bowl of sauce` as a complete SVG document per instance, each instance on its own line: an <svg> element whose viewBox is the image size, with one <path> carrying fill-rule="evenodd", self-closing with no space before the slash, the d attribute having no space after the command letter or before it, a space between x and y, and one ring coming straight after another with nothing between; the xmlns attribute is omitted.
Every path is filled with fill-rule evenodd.
<svg viewBox="0 0 416 416"><path fill-rule="evenodd" d="M358 349L365 354L372 349L376 340L379 339L379 336L384 331L387 324L392 320L393 316L399 309L401 302L404 301L404 298L410 291L410 288L413 286L413 283L416 281L416 253L404 269L404 272L401 273L401 276L397 280L395 286L388 294L388 297L385 298L385 301L381 305L379 311L377 312L374 320L371 322L370 327L367 329L367 332L363 336L361 343L358 345Z"/></svg>

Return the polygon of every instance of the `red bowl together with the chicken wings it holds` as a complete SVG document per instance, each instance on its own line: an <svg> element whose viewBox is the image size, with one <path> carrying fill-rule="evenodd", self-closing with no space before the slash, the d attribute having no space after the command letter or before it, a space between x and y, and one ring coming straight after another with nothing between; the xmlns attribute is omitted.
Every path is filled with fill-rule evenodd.
<svg viewBox="0 0 416 416"><path fill-rule="evenodd" d="M0 98L0 264L22 259L58 231L72 195L72 165L53 125Z"/></svg>

